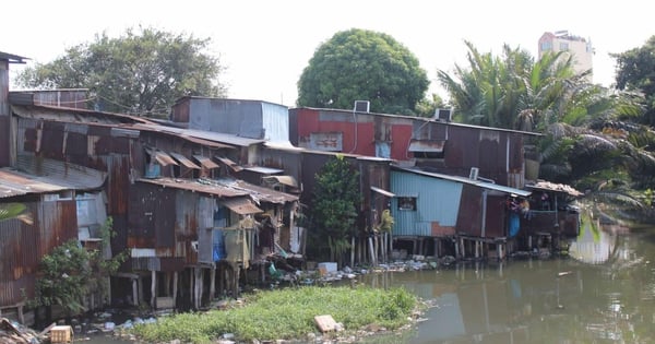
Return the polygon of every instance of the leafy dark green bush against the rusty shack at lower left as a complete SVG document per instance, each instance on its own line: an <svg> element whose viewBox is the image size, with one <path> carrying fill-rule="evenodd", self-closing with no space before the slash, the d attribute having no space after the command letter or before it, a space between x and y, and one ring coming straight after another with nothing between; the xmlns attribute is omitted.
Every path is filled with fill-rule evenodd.
<svg viewBox="0 0 655 344"><path fill-rule="evenodd" d="M44 256L36 281L31 307L61 306L67 316L75 316L86 310L85 298L107 297L108 277L126 260L124 252L105 258L105 248L114 235L112 218L108 217L99 230L100 248L86 249L78 239L71 239Z"/></svg>

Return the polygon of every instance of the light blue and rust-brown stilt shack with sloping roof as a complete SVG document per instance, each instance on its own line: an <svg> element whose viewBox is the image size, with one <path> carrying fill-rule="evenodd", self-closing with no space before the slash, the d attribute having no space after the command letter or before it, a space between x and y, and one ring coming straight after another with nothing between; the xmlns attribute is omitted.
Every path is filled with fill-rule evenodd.
<svg viewBox="0 0 655 344"><path fill-rule="evenodd" d="M396 248L421 256L503 259L515 236L507 200L531 192L474 177L392 167Z"/></svg>

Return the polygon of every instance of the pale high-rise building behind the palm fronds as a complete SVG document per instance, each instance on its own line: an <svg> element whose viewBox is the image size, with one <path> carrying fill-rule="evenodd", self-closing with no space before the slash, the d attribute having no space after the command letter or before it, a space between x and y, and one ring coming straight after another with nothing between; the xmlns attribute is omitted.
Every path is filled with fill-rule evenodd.
<svg viewBox="0 0 655 344"><path fill-rule="evenodd" d="M541 35L541 38L539 38L539 59L548 51L567 51L567 54L573 55L573 68L577 73L593 68L592 56L594 49L592 48L592 41L571 35L568 31L547 32ZM588 80L592 81L591 74Z"/></svg>

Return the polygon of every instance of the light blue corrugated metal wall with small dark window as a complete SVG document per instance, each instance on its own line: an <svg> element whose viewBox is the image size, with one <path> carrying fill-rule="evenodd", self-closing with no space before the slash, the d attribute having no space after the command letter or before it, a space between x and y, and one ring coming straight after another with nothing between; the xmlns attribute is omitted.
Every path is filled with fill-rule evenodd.
<svg viewBox="0 0 655 344"><path fill-rule="evenodd" d="M395 236L431 236L433 223L455 226L462 183L403 171L391 171L390 191L396 194L391 212ZM397 197L417 197L416 211L400 211Z"/></svg>

